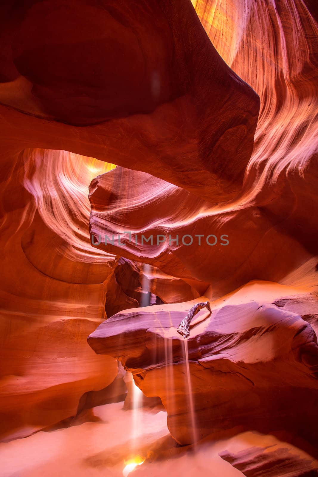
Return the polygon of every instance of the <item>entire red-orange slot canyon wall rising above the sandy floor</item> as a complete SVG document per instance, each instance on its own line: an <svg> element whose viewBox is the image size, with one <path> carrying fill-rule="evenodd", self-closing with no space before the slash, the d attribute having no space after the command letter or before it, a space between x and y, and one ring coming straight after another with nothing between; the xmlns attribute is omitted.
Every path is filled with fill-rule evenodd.
<svg viewBox="0 0 318 477"><path fill-rule="evenodd" d="M120 362L180 444L317 447L316 3L0 8L1 439L120 399Z"/></svg>

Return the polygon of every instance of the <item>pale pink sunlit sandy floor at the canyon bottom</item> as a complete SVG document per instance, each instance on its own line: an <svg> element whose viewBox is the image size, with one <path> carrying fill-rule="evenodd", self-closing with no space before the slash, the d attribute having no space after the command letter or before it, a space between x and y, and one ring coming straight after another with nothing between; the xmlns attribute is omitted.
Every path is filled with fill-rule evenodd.
<svg viewBox="0 0 318 477"><path fill-rule="evenodd" d="M1 477L123 476L131 458L147 460L138 476L242 476L215 446L196 454L170 437L162 410L123 410L123 403L95 407L95 422L38 432L0 444Z"/></svg>

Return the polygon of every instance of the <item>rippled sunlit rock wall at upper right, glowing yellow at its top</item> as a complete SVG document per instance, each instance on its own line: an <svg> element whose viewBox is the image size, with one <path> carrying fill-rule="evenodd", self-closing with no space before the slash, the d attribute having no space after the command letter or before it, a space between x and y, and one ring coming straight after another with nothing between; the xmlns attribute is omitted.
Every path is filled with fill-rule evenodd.
<svg viewBox="0 0 318 477"><path fill-rule="evenodd" d="M249 198L280 199L287 183L306 213L316 203L316 186L306 201L303 194L318 174L317 5L310 0L192 3L222 58L260 97L246 171Z"/></svg>

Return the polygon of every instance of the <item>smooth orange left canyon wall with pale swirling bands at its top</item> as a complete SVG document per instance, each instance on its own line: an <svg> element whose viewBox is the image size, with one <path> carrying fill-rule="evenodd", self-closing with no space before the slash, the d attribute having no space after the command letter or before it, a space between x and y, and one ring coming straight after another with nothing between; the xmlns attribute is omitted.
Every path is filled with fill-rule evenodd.
<svg viewBox="0 0 318 477"><path fill-rule="evenodd" d="M34 150L11 162L1 184L1 440L76 415L84 394L117 375L116 361L86 342L106 316L116 266L88 234L83 177L98 161Z"/></svg>

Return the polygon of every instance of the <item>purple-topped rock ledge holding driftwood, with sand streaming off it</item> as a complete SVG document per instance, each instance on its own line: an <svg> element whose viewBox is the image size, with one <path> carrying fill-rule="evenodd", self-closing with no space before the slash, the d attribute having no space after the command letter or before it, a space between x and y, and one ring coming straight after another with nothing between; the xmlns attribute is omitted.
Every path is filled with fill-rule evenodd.
<svg viewBox="0 0 318 477"><path fill-rule="evenodd" d="M161 398L181 444L194 440L186 353L197 438L233 428L283 429L315 441L318 346L311 325L274 304L243 299L211 303L212 314L201 312L184 340L176 327L193 304L118 313L88 342L96 353L120 359L145 395Z"/></svg>

